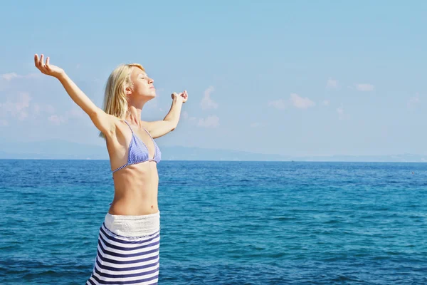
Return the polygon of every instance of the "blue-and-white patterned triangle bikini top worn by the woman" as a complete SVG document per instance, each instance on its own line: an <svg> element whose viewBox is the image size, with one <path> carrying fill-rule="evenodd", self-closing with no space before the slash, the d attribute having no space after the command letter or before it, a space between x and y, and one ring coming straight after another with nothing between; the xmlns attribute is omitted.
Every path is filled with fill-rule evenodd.
<svg viewBox="0 0 427 285"><path fill-rule="evenodd" d="M129 126L129 123L125 123ZM145 130L145 129L144 129ZM127 167L128 165L135 165L137 163L146 162L146 161L155 161L156 163L159 163L159 161L162 158L162 152L160 152L159 147L157 146L157 143L154 142L152 136L148 133L149 137L152 139L152 142L154 143L154 157L149 158L148 154L148 147L144 144L144 142L137 137L137 135L134 134L132 128L130 128L130 131L132 132L132 139L130 140L129 144L129 154L127 155L127 163L125 165L120 166L116 170L112 170L112 172L116 172L117 170L121 170L122 168Z"/></svg>

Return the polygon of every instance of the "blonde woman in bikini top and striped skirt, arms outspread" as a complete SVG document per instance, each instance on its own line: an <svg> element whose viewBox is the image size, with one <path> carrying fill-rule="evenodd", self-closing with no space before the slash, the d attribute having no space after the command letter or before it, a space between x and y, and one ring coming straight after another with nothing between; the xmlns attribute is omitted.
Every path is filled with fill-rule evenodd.
<svg viewBox="0 0 427 285"><path fill-rule="evenodd" d="M97 256L86 284L157 284L159 277L160 212L157 204L161 152L153 138L176 128L187 93L172 93L164 120L140 120L145 103L156 96L152 78L139 64L112 71L105 87L104 110L98 108L63 69L34 56L36 67L58 78L105 138L114 199L100 227Z"/></svg>

